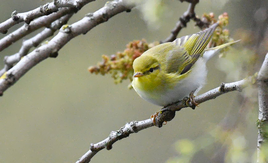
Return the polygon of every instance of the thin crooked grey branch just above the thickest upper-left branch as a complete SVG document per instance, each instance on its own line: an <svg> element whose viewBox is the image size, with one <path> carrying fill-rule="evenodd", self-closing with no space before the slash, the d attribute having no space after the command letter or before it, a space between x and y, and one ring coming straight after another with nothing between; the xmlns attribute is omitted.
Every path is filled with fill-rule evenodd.
<svg viewBox="0 0 268 163"><path fill-rule="evenodd" d="M41 42L43 42L46 38L53 36L54 32L64 24L68 22L68 20L72 17L74 13L67 14L62 18L52 22L49 28L45 28L42 32L35 35L34 37L23 41L22 47L18 53L13 54L11 56L6 56L4 58L5 66L2 70L0 70L0 76L2 76L6 71L11 69L13 65L20 61L20 59L25 56L32 47L37 47Z"/></svg>

